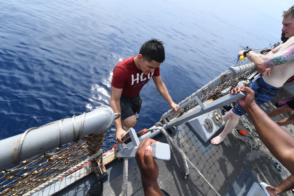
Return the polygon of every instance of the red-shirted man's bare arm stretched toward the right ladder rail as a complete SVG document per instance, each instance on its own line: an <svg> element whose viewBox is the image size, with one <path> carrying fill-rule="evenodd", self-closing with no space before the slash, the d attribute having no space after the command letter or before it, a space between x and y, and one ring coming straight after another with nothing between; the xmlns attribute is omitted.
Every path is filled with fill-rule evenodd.
<svg viewBox="0 0 294 196"><path fill-rule="evenodd" d="M152 79L155 83L155 86L156 86L158 92L169 103L170 107L175 110L174 113L179 112L180 110L177 110L177 107L179 107L179 105L173 102L171 96L168 93L168 90L167 90L165 84L163 83L163 81L161 79L161 76L152 76Z"/></svg>

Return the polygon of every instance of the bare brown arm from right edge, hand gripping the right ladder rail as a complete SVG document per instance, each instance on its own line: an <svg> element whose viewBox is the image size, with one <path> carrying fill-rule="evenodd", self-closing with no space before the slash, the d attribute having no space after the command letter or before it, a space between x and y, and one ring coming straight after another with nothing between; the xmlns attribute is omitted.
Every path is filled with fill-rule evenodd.
<svg viewBox="0 0 294 196"><path fill-rule="evenodd" d="M293 175L294 174L294 137L286 130L275 123L266 113L255 103L254 91L249 87L239 86L234 88L231 93L237 94L243 91L246 97L238 103L246 110L255 129L268 148Z"/></svg>

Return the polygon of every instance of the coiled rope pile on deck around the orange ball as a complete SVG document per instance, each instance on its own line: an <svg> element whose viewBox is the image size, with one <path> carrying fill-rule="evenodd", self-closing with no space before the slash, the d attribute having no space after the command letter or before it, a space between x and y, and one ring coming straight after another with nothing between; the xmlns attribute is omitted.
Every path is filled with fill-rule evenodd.
<svg viewBox="0 0 294 196"><path fill-rule="evenodd" d="M245 130L246 135L240 135L239 131ZM260 142L258 140L259 136L255 130L255 127L248 121L247 118L241 116L238 125L235 129L232 130L232 134L235 138L242 140L245 142L247 148L252 150L252 148L256 148L260 146Z"/></svg>

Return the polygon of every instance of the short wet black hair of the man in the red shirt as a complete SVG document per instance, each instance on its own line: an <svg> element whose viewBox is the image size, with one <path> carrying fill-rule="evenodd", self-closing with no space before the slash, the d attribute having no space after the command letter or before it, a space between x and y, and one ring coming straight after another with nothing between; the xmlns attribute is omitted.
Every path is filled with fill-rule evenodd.
<svg viewBox="0 0 294 196"><path fill-rule="evenodd" d="M140 52L144 61L151 62L152 60L162 63L165 60L164 46L162 41L151 39L143 43Z"/></svg>

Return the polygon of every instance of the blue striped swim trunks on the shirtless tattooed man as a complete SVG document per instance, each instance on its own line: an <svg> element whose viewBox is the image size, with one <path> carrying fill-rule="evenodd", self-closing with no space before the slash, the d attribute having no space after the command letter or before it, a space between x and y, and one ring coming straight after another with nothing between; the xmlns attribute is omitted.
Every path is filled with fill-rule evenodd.
<svg viewBox="0 0 294 196"><path fill-rule="evenodd" d="M251 81L248 84L248 87L254 91L254 100L257 103L257 105L261 105L265 102L268 102L269 100L274 98L280 92L281 89L281 87L277 88L268 85L267 83L265 83L261 76L258 76L253 81ZM246 113L242 106L238 103L238 101L234 106L232 112L239 116Z"/></svg>

